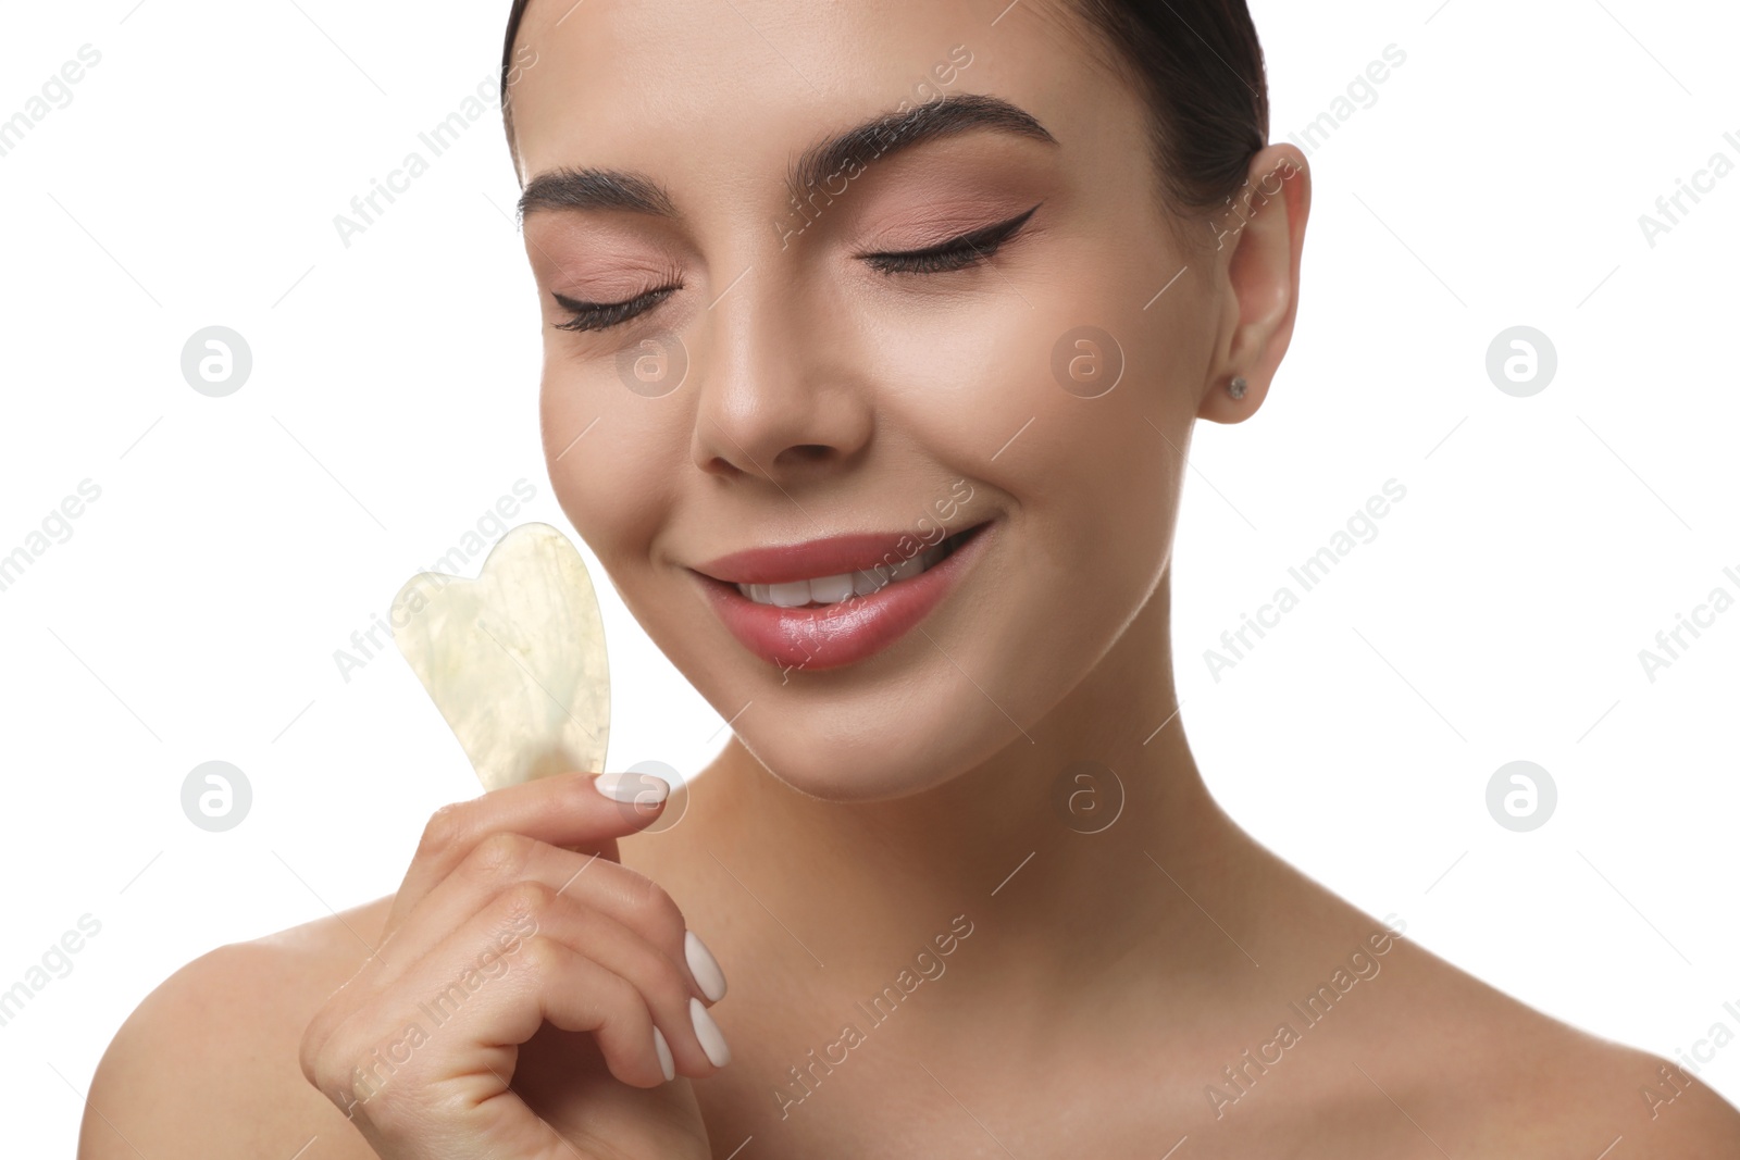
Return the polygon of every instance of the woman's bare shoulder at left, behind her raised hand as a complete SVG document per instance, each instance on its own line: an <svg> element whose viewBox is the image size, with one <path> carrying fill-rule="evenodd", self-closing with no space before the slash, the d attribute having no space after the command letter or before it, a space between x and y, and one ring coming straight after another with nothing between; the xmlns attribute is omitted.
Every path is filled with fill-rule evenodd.
<svg viewBox="0 0 1740 1160"><path fill-rule="evenodd" d="M97 1063L80 1160L372 1157L306 1078L303 1030L367 960L392 896L200 955L134 1009Z"/></svg>

